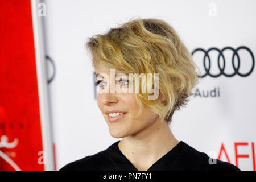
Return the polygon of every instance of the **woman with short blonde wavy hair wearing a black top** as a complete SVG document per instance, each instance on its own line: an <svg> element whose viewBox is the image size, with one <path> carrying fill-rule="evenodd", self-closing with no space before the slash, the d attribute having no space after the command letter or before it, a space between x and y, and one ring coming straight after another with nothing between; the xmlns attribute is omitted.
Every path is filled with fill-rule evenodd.
<svg viewBox="0 0 256 182"><path fill-rule="evenodd" d="M196 64L174 28L138 18L89 38L86 46L96 71L98 107L110 135L122 140L61 170L239 170L179 142L170 130L174 111L187 104L198 82ZM135 73L146 75L139 86Z"/></svg>

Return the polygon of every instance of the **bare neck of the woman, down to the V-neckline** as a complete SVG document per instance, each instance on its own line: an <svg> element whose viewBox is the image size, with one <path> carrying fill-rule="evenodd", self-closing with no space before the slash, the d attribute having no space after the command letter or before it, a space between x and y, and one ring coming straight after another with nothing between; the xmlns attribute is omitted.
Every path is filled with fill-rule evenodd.
<svg viewBox="0 0 256 182"><path fill-rule="evenodd" d="M147 170L178 143L168 123L158 118L142 131L122 138L118 147L135 168Z"/></svg>

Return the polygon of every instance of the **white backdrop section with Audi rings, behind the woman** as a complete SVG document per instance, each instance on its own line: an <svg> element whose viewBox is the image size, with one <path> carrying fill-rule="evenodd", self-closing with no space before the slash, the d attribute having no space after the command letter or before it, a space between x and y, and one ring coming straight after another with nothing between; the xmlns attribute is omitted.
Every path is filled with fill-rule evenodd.
<svg viewBox="0 0 256 182"><path fill-rule="evenodd" d="M57 169L121 140L110 136L94 98L93 68L84 48L89 36L104 33L133 16L160 18L175 28L191 53L196 48L207 51L212 47L236 49L245 46L255 57L256 1L253 0L45 2L47 55L56 65L56 76L49 84L49 91ZM232 53L224 52L227 74L234 72ZM239 72L246 73L253 66L252 57L244 49L238 54ZM204 74L203 52L193 56ZM218 52L210 51L209 57L209 72L220 73ZM237 57L234 64L237 68ZM208 60L206 65L209 66ZM222 59L220 65L223 68ZM208 155L215 154L215 158L223 143L230 162L235 165L237 145L238 167L253 170L253 144L256 142L254 69L246 77L205 76L195 88L202 97L191 97L188 106L174 114L171 129L175 137ZM216 97L203 97L203 92L214 88L219 90ZM245 156L240 158L239 155ZM224 151L220 159L228 161Z"/></svg>

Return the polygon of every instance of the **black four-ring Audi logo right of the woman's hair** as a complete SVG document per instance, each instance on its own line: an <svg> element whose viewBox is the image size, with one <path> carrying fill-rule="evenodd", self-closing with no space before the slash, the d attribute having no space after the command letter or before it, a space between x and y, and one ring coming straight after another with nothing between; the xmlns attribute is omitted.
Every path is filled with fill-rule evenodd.
<svg viewBox="0 0 256 182"><path fill-rule="evenodd" d="M250 66L250 68L248 68L248 71L246 73L241 73L239 71L239 68L240 68L240 61L242 61L238 55L238 51L241 50L241 49L245 49L247 52L249 52L250 54L250 57L251 57L251 61L252 61L252 64ZM233 56L232 56L232 66L233 66L233 69L234 69L234 72L231 73L231 74L228 74L228 73L225 73L225 64L226 64L226 61L231 61L231 60L226 60L224 55L223 55L223 52L226 51L226 50L231 50L233 51ZM192 55L197 52L197 51L202 51L204 52L204 59L203 59L203 64L204 64L204 69L205 69L205 74L202 75L201 77L205 77L207 75L211 76L211 77L219 77L221 75L224 75L226 77L233 77L234 75L239 75L241 77L246 77L246 76L249 76L252 72L253 72L253 69L254 69L254 56L253 56L253 52L251 52L251 50L245 46L240 46L238 47L237 49L234 49L232 47L224 47L223 49L218 49L216 47L212 47L212 48L209 48L208 51L205 51L204 49L202 48L197 48L195 49L193 52L192 52ZM220 70L220 73L216 74L216 75L213 75L212 73L210 73L210 65L212 63L212 60L210 59L210 56L209 56L209 52L210 51L217 51L218 52L218 69ZM237 67L235 67L235 64L234 64L234 57L237 57ZM222 61L223 61L223 66L221 68L220 66L220 58L222 57ZM208 68L206 67L205 65L205 61L206 61L206 58L208 58L208 63L209 63L209 66Z"/></svg>

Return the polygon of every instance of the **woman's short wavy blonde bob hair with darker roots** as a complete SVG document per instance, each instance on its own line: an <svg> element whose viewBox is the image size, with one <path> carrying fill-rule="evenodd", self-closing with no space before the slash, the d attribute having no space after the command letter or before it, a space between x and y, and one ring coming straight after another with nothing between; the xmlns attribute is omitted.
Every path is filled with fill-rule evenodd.
<svg viewBox="0 0 256 182"><path fill-rule="evenodd" d="M147 107L170 124L174 111L195 94L191 90L199 82L197 65L174 28L163 20L131 19L106 34L88 38L86 48L94 68L105 65L118 73L159 73L159 96L164 102L137 93L139 114Z"/></svg>

